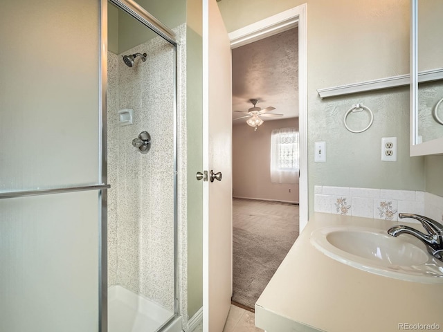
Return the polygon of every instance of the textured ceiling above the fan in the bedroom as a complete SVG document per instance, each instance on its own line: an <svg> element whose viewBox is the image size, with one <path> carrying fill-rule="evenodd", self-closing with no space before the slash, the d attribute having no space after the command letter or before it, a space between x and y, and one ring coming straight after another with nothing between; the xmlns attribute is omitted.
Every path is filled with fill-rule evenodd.
<svg viewBox="0 0 443 332"><path fill-rule="evenodd" d="M298 28L234 48L232 54L233 119L244 116L234 110L253 107L251 98L262 109L275 107L269 113L284 114L263 120L298 116Z"/></svg>

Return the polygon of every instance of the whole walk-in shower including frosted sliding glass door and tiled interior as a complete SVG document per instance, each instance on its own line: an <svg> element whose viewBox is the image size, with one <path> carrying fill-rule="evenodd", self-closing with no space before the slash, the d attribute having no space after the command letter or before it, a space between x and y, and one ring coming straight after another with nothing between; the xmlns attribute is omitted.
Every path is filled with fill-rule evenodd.
<svg viewBox="0 0 443 332"><path fill-rule="evenodd" d="M177 43L110 1L1 3L2 332L181 331Z"/></svg>

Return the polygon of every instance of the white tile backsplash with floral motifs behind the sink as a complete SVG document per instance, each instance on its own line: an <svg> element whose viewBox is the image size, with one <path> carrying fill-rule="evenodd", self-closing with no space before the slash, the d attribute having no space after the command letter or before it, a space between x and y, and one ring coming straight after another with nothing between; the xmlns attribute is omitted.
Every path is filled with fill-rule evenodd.
<svg viewBox="0 0 443 332"><path fill-rule="evenodd" d="M316 185L314 211L394 221L398 220L400 212L406 212L440 222L443 221L443 197L413 190Z"/></svg>

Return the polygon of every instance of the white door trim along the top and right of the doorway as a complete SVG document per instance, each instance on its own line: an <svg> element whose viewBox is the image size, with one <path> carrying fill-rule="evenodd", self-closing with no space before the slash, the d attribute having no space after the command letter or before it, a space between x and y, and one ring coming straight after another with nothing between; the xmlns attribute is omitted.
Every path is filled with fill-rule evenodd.
<svg viewBox="0 0 443 332"><path fill-rule="evenodd" d="M307 3L229 33L231 48L289 30L298 25L298 126L300 132L300 232L308 219L307 185Z"/></svg>

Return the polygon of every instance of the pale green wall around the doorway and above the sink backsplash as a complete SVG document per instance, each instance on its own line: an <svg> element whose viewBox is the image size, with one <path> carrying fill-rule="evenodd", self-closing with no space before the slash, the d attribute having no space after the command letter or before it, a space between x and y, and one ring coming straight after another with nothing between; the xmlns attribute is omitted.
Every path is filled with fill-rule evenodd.
<svg viewBox="0 0 443 332"><path fill-rule="evenodd" d="M218 4L232 32L303 3L307 3L309 214L314 211L314 185L425 190L424 157L409 157L408 87L324 100L317 93L317 89L408 73L410 1L224 0ZM363 133L350 133L343 124L346 111L356 103L374 112L372 127ZM353 116L351 122L368 121L363 113ZM381 138L390 136L397 137L397 162L382 162ZM314 163L314 142L320 140L326 141L326 163Z"/></svg>

